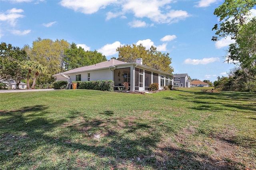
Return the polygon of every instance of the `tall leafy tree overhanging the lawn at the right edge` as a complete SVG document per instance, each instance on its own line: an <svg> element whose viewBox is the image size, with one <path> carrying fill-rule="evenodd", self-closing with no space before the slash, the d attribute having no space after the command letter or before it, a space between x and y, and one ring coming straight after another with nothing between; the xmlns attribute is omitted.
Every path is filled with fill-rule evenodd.
<svg viewBox="0 0 256 170"><path fill-rule="evenodd" d="M248 85L246 87L251 88L249 91L256 86L256 18L249 18L250 10L255 5L255 0L225 0L214 11L214 14L220 17L220 24L216 24L212 29L216 30L213 41L227 36L235 40L229 45L227 61L239 61L241 67L238 72L246 73L242 75Z"/></svg>

